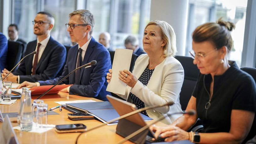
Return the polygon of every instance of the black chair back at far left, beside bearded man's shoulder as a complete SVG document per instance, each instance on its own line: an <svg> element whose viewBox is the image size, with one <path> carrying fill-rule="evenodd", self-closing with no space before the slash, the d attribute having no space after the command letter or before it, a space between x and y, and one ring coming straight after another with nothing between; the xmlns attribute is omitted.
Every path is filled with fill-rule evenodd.
<svg viewBox="0 0 256 144"><path fill-rule="evenodd" d="M21 55L23 52L23 44L21 42L11 42L8 41L8 52L7 52L7 68L11 70L14 68L16 64L19 63L21 59ZM14 71L18 69L18 66L14 69ZM14 72L13 71L13 72Z"/></svg>

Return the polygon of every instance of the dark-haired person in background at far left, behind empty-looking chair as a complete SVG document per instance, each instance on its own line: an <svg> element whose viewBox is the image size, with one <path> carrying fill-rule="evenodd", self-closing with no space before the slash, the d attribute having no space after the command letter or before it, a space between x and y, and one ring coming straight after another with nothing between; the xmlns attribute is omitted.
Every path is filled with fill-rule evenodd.
<svg viewBox="0 0 256 144"><path fill-rule="evenodd" d="M27 47L27 43L24 40L19 38L19 28L16 24L10 24L8 26L8 36L9 36L8 41L21 42L22 43L22 45L23 45L22 57L24 57L26 47Z"/></svg>

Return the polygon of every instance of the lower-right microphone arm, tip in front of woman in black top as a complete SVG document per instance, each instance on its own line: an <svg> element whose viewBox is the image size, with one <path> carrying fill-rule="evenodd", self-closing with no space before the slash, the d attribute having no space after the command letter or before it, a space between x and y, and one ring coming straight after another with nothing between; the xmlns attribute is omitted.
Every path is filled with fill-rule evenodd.
<svg viewBox="0 0 256 144"><path fill-rule="evenodd" d="M191 110L189 110L189 111L187 111L187 112L178 112L178 113L173 113L173 114L188 114L188 115L194 115L194 114L196 114L196 111L193 110L193 109L191 109ZM127 140L131 139L132 137L138 135L138 134L141 133L142 131L148 129L151 125L153 125L153 124L155 124L155 123L157 123L157 122L159 122L159 121L165 119L167 116L171 116L171 115L173 115L173 114L167 114L167 115L161 116L159 119L157 119L156 121L154 121L154 122L151 123L150 125L145 125L145 126L143 126L142 128L140 128L139 130L136 130L135 132L131 133L131 135L126 136L123 140L119 141L117 144L124 143L125 141L127 141Z"/></svg>

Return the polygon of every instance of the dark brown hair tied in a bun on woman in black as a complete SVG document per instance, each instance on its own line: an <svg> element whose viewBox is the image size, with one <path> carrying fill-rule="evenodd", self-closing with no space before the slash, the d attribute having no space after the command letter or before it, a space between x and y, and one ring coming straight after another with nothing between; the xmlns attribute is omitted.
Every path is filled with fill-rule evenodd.
<svg viewBox="0 0 256 144"><path fill-rule="evenodd" d="M232 22L226 22L220 19L216 23L209 22L199 25L192 34L194 42L210 41L217 49L226 46L228 52L232 47L231 31L235 28Z"/></svg>

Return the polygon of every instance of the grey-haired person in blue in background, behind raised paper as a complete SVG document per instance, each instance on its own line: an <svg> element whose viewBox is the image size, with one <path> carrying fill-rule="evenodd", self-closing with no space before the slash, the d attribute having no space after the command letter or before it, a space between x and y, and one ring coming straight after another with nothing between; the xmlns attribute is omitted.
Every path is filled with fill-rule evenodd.
<svg viewBox="0 0 256 144"><path fill-rule="evenodd" d="M139 46L138 39L135 36L128 36L125 39L125 48L133 50L133 53L138 56L145 53L143 49Z"/></svg>

